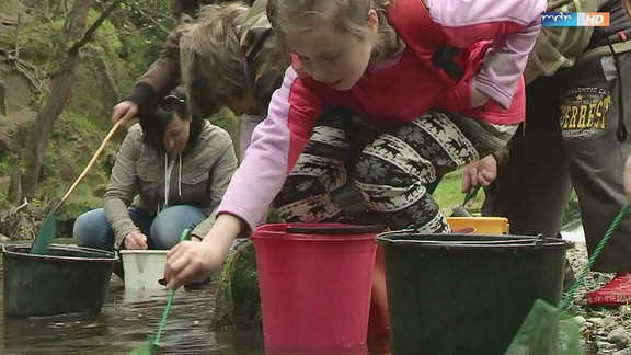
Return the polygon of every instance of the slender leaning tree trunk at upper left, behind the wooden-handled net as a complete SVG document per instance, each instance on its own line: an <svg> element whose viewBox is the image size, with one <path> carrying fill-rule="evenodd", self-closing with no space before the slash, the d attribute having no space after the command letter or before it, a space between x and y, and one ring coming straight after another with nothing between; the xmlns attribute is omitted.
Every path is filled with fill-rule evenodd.
<svg viewBox="0 0 631 355"><path fill-rule="evenodd" d="M80 48L72 47L69 51L66 48L69 47L72 41L80 38L85 31L90 3L91 0L74 0L74 4L66 20L64 39L59 42L57 48L57 54L62 55L66 53L66 57L60 61L59 69L55 73L55 80L53 81L50 96L37 113L31 135L27 138L26 149L24 149L24 154L22 156L24 163L22 193L28 199L33 198L37 190L45 148L48 146L55 122L70 98L74 82Z"/></svg>

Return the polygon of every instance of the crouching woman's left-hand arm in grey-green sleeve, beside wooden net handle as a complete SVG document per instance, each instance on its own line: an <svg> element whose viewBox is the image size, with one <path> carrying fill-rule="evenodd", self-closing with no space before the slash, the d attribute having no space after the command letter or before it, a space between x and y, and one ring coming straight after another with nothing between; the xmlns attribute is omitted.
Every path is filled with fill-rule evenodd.
<svg viewBox="0 0 631 355"><path fill-rule="evenodd" d="M110 183L103 196L105 216L114 230L115 249L121 248L121 243L127 234L139 230L129 217L127 206L131 204L137 191L136 163L140 145L140 126L136 124L129 128L127 137L118 149Z"/></svg>

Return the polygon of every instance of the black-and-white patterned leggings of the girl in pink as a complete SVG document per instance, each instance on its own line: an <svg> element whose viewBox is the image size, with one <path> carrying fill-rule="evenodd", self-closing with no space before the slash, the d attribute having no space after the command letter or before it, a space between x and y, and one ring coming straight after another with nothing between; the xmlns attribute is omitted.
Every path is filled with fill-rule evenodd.
<svg viewBox="0 0 631 355"><path fill-rule="evenodd" d="M505 146L514 131L439 111L381 129L331 111L316 125L274 207L288 222L335 220L342 209L331 192L354 180L390 229L449 232L425 186Z"/></svg>

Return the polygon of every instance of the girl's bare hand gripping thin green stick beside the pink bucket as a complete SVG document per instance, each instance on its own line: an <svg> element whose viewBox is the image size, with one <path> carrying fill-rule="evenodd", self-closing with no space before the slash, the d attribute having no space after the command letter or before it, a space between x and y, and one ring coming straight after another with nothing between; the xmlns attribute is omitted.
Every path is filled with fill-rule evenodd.
<svg viewBox="0 0 631 355"><path fill-rule="evenodd" d="M182 285L199 283L221 267L226 252L214 243L183 241L167 253L164 278L167 288L177 289Z"/></svg>

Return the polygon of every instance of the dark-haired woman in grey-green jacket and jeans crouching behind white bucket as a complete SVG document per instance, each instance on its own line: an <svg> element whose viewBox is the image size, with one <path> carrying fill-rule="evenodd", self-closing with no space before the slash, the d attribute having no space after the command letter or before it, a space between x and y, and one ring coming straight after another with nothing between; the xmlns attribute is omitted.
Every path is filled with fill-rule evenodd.
<svg viewBox="0 0 631 355"><path fill-rule="evenodd" d="M77 218L74 240L108 251L171 249L185 228L202 240L236 169L228 133L191 115L184 91L176 88L129 128L103 208Z"/></svg>

